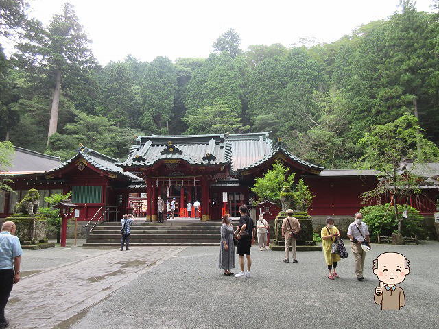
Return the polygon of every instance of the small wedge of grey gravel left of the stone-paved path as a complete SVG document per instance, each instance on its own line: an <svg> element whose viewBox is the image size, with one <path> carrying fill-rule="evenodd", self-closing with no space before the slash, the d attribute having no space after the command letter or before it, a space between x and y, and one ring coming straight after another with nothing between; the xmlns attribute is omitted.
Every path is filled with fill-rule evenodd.
<svg viewBox="0 0 439 329"><path fill-rule="evenodd" d="M81 246L84 241L78 240L77 246L75 246L73 245L73 239L69 239L67 240L67 247L56 245L56 247L48 249L23 250L21 256L21 277L24 278L25 276L42 272L45 269L84 260L87 257L97 256L110 250L82 248Z"/></svg>

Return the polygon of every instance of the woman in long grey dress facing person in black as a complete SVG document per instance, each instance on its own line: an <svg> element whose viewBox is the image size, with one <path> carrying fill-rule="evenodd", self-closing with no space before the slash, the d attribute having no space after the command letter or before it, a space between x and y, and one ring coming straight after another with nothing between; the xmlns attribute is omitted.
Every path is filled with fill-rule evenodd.
<svg viewBox="0 0 439 329"><path fill-rule="evenodd" d="M222 217L221 249L219 250L219 268L224 269L224 276L233 275L230 269L235 267L235 246L233 243L233 226L230 214Z"/></svg>

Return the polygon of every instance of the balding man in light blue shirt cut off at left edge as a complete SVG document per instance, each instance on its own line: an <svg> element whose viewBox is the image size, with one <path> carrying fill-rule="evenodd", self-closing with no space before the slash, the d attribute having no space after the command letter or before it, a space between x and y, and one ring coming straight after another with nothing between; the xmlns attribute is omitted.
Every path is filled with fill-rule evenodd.
<svg viewBox="0 0 439 329"><path fill-rule="evenodd" d="M12 285L20 281L21 245L15 236L16 226L13 221L5 221L0 233L0 328L9 326L5 318Z"/></svg>

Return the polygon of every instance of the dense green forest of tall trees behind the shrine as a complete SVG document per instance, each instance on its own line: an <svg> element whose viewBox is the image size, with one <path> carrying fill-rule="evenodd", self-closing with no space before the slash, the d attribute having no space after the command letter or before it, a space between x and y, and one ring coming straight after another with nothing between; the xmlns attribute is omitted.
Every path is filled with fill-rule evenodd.
<svg viewBox="0 0 439 329"><path fill-rule="evenodd" d="M409 112L437 144L438 3L418 12L402 0L330 44L241 49L230 29L208 58L100 66L69 3L43 26L25 0L2 0L0 47L16 47L9 58L0 48L0 138L65 160L79 143L123 158L140 134L272 131L296 156L342 169L373 125Z"/></svg>

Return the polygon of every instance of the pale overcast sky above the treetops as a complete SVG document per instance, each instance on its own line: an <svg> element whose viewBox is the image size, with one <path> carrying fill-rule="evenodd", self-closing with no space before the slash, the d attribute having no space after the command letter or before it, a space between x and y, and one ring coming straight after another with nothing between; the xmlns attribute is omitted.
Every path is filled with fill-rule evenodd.
<svg viewBox="0 0 439 329"><path fill-rule="evenodd" d="M61 12L60 0L31 1L31 16L49 23ZM299 38L332 42L370 21L383 19L399 0L70 0L93 40L100 64L123 60L131 53L143 61L158 55L206 57L227 29L235 29L248 45L282 43ZM431 0L416 1L431 11Z"/></svg>

